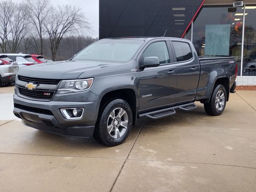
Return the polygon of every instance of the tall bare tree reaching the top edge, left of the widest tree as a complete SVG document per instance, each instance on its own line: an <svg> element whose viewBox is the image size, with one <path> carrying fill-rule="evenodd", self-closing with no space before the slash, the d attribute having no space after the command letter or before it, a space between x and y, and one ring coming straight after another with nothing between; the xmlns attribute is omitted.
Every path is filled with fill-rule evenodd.
<svg viewBox="0 0 256 192"><path fill-rule="evenodd" d="M26 6L29 10L28 16L30 17L36 34L40 39L40 44L34 39L34 46L36 47L37 54L43 54L43 22L52 10L50 0L26 0Z"/></svg>

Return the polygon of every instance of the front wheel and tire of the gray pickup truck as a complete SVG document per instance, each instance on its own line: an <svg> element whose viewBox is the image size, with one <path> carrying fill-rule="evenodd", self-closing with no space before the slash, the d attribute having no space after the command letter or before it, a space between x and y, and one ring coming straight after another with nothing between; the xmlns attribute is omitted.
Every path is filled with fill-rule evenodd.
<svg viewBox="0 0 256 192"><path fill-rule="evenodd" d="M132 129L132 109L122 99L112 99L100 109L94 138L106 146L122 144Z"/></svg>

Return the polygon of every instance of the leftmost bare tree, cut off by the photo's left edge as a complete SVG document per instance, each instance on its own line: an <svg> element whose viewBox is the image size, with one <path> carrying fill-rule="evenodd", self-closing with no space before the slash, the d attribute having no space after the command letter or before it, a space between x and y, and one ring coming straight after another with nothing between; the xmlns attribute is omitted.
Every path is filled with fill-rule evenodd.
<svg viewBox="0 0 256 192"><path fill-rule="evenodd" d="M0 1L0 47L2 52L7 51L7 40L11 30L11 18L14 14L16 4L12 0Z"/></svg>

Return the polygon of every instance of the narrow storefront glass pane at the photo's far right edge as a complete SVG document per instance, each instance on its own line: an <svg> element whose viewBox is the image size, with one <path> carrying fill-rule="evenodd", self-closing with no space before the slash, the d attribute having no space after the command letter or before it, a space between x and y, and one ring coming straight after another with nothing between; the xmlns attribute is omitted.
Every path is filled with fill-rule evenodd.
<svg viewBox="0 0 256 192"><path fill-rule="evenodd" d="M243 10L243 9L242 9ZM244 26L243 76L256 76L256 6L246 5Z"/></svg>

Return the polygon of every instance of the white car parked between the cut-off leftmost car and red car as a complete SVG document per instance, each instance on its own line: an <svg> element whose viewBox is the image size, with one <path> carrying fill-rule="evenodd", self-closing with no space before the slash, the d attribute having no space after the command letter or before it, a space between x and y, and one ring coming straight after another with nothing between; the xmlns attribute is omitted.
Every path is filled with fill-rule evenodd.
<svg viewBox="0 0 256 192"><path fill-rule="evenodd" d="M7 55L8 58L16 61L19 65L19 68L34 65L34 64L38 64L38 62L36 62L34 59L32 59L31 55L29 55L29 54L8 53L8 54L5 54L5 55Z"/></svg>

